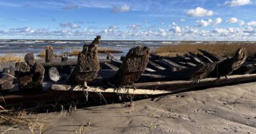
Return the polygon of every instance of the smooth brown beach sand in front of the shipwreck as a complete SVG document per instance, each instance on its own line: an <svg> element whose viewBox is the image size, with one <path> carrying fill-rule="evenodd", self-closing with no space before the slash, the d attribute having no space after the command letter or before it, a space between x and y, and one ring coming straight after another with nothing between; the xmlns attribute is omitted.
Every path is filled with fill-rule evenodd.
<svg viewBox="0 0 256 134"><path fill-rule="evenodd" d="M35 114L33 117L44 117ZM43 133L256 133L256 82L46 116ZM1 126L1 132L11 126ZM31 133L14 127L7 133ZM38 130L34 130L39 133Z"/></svg>

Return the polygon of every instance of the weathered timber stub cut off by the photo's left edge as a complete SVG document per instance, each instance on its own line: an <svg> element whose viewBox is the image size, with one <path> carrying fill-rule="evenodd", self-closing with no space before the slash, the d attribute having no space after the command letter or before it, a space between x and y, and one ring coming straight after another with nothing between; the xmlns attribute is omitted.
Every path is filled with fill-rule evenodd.
<svg viewBox="0 0 256 134"><path fill-rule="evenodd" d="M3 68L3 73L1 74L0 90L11 90L14 81L14 67Z"/></svg>

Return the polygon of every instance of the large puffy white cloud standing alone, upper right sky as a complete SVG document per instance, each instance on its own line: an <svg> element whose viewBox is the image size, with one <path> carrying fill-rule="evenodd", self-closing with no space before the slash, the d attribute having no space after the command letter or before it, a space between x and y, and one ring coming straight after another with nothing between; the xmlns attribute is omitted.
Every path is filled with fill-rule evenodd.
<svg viewBox="0 0 256 134"><path fill-rule="evenodd" d="M198 16L198 17L212 16L213 15L213 11L212 10L207 10L205 8L202 8L202 7L197 7L195 9L188 10L186 12L186 14L188 14L188 16Z"/></svg>

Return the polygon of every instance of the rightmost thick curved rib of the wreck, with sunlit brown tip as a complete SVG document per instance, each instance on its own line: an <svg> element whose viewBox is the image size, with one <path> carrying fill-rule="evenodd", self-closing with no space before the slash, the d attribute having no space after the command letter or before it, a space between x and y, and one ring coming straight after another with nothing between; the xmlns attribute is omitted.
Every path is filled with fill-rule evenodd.
<svg viewBox="0 0 256 134"><path fill-rule="evenodd" d="M246 58L247 51L245 48L239 48L232 58L224 59L219 62L216 65L215 70L209 76L220 78L221 76L230 75L233 71L236 71L241 67Z"/></svg>

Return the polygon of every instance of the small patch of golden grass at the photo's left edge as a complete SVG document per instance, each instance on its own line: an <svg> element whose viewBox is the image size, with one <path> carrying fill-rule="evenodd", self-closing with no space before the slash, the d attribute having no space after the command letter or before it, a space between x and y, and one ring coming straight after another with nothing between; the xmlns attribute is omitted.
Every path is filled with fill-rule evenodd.
<svg viewBox="0 0 256 134"><path fill-rule="evenodd" d="M0 62L20 62L24 61L24 54L5 54L0 56Z"/></svg>

